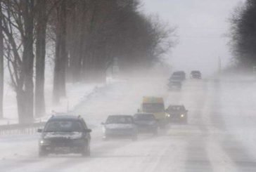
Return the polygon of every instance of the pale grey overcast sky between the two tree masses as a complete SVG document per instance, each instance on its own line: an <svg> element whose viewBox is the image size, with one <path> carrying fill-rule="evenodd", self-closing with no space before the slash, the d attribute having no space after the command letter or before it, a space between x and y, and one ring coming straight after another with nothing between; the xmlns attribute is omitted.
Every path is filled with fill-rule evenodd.
<svg viewBox="0 0 256 172"><path fill-rule="evenodd" d="M245 0L141 0L143 12L158 14L171 26L177 26L179 44L169 54L175 70L201 70L209 75L230 59L229 18L233 9Z"/></svg>

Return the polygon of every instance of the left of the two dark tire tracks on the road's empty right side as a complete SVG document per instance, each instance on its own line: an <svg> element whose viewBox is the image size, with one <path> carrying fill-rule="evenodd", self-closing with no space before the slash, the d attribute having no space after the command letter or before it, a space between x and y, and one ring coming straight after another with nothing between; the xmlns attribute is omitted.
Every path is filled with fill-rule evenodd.
<svg viewBox="0 0 256 172"><path fill-rule="evenodd" d="M206 150L207 141L205 139L209 131L202 119L207 95L206 84L205 81L188 81L185 83L184 89L180 94L179 103L184 103L188 108L188 124L194 127L188 128L187 126L191 133L186 135L188 136L186 137L186 162L184 166L184 171L186 172L212 171L212 164ZM170 95L170 98L172 98L172 95ZM195 134L195 132L198 133Z"/></svg>

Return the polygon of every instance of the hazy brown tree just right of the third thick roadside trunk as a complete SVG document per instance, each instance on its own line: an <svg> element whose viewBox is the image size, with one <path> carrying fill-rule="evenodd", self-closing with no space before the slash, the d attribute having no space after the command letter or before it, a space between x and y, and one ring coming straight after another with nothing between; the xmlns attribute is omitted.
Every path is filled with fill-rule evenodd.
<svg viewBox="0 0 256 172"><path fill-rule="evenodd" d="M88 1L68 1L67 51L69 53L68 74L73 83L82 80L82 58L86 39Z"/></svg>

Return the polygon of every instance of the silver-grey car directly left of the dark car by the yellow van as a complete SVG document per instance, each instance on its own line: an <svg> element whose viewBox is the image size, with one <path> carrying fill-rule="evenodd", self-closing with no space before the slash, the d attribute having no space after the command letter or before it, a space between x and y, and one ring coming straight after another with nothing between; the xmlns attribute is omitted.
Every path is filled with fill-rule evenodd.
<svg viewBox="0 0 256 172"><path fill-rule="evenodd" d="M103 139L131 138L137 140L137 128L131 115L110 115L103 125Z"/></svg>

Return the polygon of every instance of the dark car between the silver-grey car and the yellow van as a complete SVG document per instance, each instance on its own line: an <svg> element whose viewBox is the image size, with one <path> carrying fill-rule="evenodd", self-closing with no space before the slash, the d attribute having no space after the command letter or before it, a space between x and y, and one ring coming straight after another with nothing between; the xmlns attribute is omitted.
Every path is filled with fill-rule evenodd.
<svg viewBox="0 0 256 172"><path fill-rule="evenodd" d="M134 114L134 123L140 133L158 134L158 121L155 119L154 114Z"/></svg>

